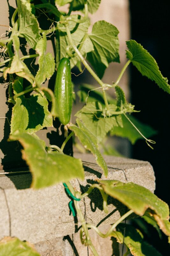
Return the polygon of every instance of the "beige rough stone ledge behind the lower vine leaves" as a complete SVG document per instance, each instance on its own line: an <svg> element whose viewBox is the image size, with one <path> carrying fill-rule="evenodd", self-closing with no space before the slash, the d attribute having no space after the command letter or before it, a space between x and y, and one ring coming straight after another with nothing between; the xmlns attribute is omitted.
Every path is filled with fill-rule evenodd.
<svg viewBox="0 0 170 256"><path fill-rule="evenodd" d="M79 183L73 180L72 185L78 190L85 190L96 178L106 179L101 168L95 164L91 154L75 154L85 165L85 180ZM109 180L133 181L150 189L155 189L155 177L150 163L122 157L105 156ZM44 189L29 188L30 174L0 177L0 208L3 222L0 223L0 238L10 235L30 243L39 243L76 233L80 223L69 215L67 197L62 184ZM23 189L26 188L26 189ZM114 223L125 212L125 206L117 200L109 200L108 214L102 211L100 193L94 190L80 207L88 223L107 225Z"/></svg>

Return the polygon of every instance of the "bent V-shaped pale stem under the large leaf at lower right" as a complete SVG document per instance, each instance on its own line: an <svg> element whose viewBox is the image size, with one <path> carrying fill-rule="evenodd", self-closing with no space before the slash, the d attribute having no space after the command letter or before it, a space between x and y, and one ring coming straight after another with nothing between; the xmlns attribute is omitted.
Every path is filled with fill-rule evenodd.
<svg viewBox="0 0 170 256"><path fill-rule="evenodd" d="M94 226L94 225L92 225L92 224L87 224L86 226L87 226L87 228L92 228L92 229L94 229L94 230L97 232L97 234L98 234L99 236L101 236L101 237L103 237L103 238L106 238L107 236L109 236L109 235L111 234L111 232L114 230L114 228L115 228L119 223L121 223L124 219L126 219L126 218L127 218L130 214L132 214L132 213L133 213L133 210L129 210L128 212L126 212L119 220L117 220L117 221L111 226L111 228L107 231L106 234L101 233L100 230L99 230L96 226Z"/></svg>

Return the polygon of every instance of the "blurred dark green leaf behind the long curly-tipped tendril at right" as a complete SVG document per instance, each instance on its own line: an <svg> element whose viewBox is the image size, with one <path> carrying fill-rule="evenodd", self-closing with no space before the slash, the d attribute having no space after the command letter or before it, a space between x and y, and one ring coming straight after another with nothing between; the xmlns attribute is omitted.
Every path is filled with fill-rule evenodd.
<svg viewBox="0 0 170 256"><path fill-rule="evenodd" d="M149 125L143 124L138 121L133 116L128 116L133 124L139 129L140 132L144 134L145 137L150 138L151 136L157 134L157 132ZM114 127L111 131L111 135L116 135L122 138L128 138L132 144L139 139L144 139L139 132L133 127L133 125L128 121L128 119L122 115L123 127Z"/></svg>

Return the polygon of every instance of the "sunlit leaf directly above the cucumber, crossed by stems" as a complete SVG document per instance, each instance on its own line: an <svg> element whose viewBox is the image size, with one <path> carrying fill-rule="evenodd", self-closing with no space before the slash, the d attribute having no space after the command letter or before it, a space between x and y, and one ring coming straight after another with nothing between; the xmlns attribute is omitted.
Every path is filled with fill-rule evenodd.
<svg viewBox="0 0 170 256"><path fill-rule="evenodd" d="M83 19L80 15L70 15L72 18L76 19ZM71 38L74 42L74 44L77 46L78 50L81 52L81 54L84 56L86 52L91 52L93 50L93 45L91 40L89 39L87 35L87 30L90 26L90 20L87 19L84 23L76 23L74 21L69 22L69 29L71 32ZM59 64L59 61L66 56L66 48L67 45L69 45L69 40L66 34L66 30L64 25L59 24L59 42L57 41L57 52L56 54L60 55L57 57L57 66ZM70 59L70 65L71 68L76 66L77 62L79 61L79 58L77 56Z"/></svg>

